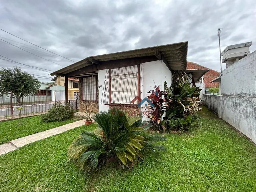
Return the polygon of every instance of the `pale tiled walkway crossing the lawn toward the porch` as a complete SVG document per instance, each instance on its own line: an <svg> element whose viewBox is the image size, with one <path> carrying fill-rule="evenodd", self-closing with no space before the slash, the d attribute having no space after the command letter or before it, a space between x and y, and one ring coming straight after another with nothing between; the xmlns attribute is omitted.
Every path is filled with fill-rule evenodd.
<svg viewBox="0 0 256 192"><path fill-rule="evenodd" d="M60 126L60 127L55 127L55 128L52 128L52 129L48 129L46 131L42 131L42 132L35 133L35 134L32 134L32 135L28 135L28 136L25 136L25 137L21 137L21 138L9 141L9 143L4 143L4 144L0 145L0 155L3 155L3 154L8 153L10 151L14 151L15 149L17 149L19 147L22 147L26 144L33 143L35 141L44 139L46 137L57 135L59 133L68 131L70 129L82 126L82 125L85 124L84 121L85 121L85 119L80 120L80 121L76 121L76 122L73 122L73 123L69 123L69 124L66 124L66 125L63 125L63 126Z"/></svg>

